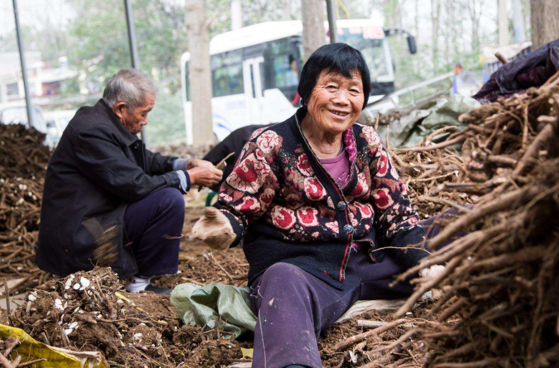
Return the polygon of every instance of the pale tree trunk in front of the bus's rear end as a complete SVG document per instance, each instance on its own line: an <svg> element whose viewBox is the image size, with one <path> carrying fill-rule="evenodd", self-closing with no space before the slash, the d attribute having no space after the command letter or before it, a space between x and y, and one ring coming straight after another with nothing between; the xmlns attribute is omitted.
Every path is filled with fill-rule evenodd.
<svg viewBox="0 0 559 368"><path fill-rule="evenodd" d="M195 145L214 141L211 116L210 34L205 0L185 1L188 36L188 84L192 102L192 131Z"/></svg>

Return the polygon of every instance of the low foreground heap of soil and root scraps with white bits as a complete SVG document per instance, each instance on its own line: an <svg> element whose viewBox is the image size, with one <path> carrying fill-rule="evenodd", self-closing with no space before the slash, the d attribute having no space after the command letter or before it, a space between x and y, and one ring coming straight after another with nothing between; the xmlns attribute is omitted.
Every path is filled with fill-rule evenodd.
<svg viewBox="0 0 559 368"><path fill-rule="evenodd" d="M149 300L140 306L128 297ZM179 326L169 306L160 295L125 293L110 268L96 267L38 286L8 323L50 346L101 352L107 366L221 366L242 358L238 342Z"/></svg>

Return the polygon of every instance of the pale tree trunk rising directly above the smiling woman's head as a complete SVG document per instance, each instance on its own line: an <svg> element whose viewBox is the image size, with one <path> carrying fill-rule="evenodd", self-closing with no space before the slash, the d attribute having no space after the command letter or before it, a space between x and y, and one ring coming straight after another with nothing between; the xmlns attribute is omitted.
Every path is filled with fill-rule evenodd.
<svg viewBox="0 0 559 368"><path fill-rule="evenodd" d="M324 0L301 0L305 60L309 59L312 52L326 44L324 4Z"/></svg>

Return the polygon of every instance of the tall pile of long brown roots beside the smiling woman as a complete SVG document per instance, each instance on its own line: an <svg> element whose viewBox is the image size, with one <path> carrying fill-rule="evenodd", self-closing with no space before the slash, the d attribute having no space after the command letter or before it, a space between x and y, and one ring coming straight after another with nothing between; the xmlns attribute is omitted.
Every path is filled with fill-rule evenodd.
<svg viewBox="0 0 559 368"><path fill-rule="evenodd" d="M409 323L390 343L366 351L362 367L559 364L559 73L460 119L467 128L440 144L428 137L393 152L422 215L453 207L459 216L441 220L446 224L428 244L432 254L398 280L431 265L445 265L444 272L412 280L415 292L390 326L338 343L337 351L357 343L367 349L372 337ZM406 318L434 288L442 296L422 318Z"/></svg>

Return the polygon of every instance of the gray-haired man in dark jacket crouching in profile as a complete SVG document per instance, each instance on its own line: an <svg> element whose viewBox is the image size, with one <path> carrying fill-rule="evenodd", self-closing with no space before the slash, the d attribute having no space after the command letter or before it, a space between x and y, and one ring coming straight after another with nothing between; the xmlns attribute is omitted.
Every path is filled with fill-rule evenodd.
<svg viewBox="0 0 559 368"><path fill-rule="evenodd" d="M102 259L127 279L129 291L170 292L150 278L177 272L183 193L219 183L222 172L208 161L145 148L136 135L148 124L156 92L141 71L121 69L103 98L80 108L64 130L42 197L35 259L42 270L65 276ZM113 247L100 254L97 241L109 228Z"/></svg>

